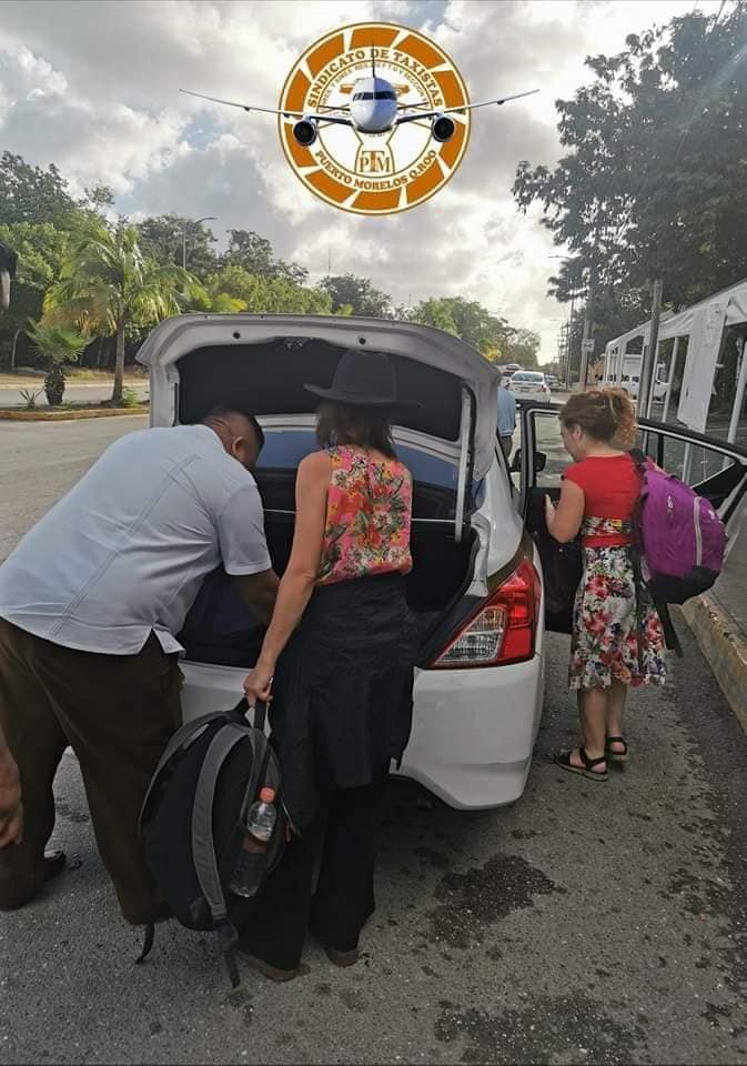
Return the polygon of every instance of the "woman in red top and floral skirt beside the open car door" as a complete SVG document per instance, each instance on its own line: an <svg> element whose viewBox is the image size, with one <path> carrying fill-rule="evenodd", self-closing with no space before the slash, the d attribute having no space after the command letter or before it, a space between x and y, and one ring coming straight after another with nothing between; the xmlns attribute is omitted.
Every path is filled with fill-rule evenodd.
<svg viewBox="0 0 747 1066"><path fill-rule="evenodd" d="M582 743L556 762L606 781L607 761L628 757L623 736L628 687L665 681L664 630L636 581L632 551L640 494L640 477L625 450L636 439L633 404L622 390L592 389L572 396L559 419L574 464L565 471L557 509L546 497L547 529L562 544L581 532L584 573L569 671L571 687L578 692Z"/></svg>

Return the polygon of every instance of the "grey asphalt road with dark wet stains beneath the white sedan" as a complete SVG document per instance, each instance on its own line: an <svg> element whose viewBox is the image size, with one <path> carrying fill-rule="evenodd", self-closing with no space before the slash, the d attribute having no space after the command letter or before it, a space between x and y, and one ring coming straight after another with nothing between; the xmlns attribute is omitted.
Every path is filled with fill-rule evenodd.
<svg viewBox="0 0 747 1066"><path fill-rule="evenodd" d="M138 424L0 425L4 547ZM0 1063L747 1063L747 740L679 628L607 784L549 761L574 740L565 638L519 803L393 782L362 962L310 944L289 985L232 992L212 938L173 925L133 967L68 754L54 843L80 866L0 916Z"/></svg>

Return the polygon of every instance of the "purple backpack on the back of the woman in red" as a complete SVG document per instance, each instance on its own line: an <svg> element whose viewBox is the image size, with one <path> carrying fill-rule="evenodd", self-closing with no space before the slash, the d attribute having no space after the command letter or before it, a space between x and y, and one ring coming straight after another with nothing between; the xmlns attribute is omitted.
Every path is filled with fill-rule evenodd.
<svg viewBox="0 0 747 1066"><path fill-rule="evenodd" d="M718 577L726 530L708 500L639 455L633 455L643 481L636 527L648 585L660 603L685 603Z"/></svg>

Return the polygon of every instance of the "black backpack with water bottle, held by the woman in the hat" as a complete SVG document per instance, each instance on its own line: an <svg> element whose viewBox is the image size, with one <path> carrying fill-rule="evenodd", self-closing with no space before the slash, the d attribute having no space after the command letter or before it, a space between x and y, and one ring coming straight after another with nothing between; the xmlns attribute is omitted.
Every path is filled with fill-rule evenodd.
<svg viewBox="0 0 747 1066"><path fill-rule="evenodd" d="M214 931L235 988L240 984L236 918L251 901L228 888L244 837L246 809L269 785L275 790L277 819L267 845L264 878L285 847L287 817L282 805L277 756L264 735L265 707L254 725L246 700L232 711L188 722L171 738L155 768L140 813L145 864L165 905L188 929ZM153 946L145 929L141 963Z"/></svg>

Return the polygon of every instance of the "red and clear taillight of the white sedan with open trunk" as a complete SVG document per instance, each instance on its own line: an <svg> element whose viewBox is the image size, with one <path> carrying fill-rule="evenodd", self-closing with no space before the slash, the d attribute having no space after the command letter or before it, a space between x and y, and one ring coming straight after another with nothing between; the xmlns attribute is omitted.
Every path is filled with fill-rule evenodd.
<svg viewBox="0 0 747 1066"><path fill-rule="evenodd" d="M502 666L532 658L539 603L539 576L525 559L467 619L431 668Z"/></svg>

